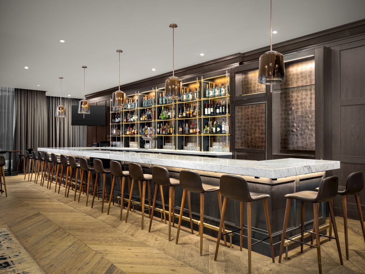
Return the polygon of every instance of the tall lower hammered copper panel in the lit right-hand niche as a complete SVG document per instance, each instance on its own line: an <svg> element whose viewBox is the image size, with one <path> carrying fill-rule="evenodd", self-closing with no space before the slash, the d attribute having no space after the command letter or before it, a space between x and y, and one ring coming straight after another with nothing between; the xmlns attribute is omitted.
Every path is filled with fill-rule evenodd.
<svg viewBox="0 0 365 274"><path fill-rule="evenodd" d="M280 90L280 149L315 150L315 85Z"/></svg>

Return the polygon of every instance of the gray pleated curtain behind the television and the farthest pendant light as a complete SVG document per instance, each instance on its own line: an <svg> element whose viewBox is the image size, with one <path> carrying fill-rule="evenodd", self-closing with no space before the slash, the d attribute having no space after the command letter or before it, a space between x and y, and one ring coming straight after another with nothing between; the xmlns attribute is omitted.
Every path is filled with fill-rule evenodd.
<svg viewBox="0 0 365 274"><path fill-rule="evenodd" d="M78 105L80 99L62 98L62 105L66 107L66 117L56 118L55 111L59 105L59 97L46 96L48 146L86 146L87 126L71 126L71 106Z"/></svg>

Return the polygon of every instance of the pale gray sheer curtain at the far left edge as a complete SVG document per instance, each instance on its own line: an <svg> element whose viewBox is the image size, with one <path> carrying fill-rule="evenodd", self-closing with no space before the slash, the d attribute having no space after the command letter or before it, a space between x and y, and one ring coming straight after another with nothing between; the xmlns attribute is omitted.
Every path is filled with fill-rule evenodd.
<svg viewBox="0 0 365 274"><path fill-rule="evenodd" d="M12 150L13 133L14 88L0 87L0 150ZM8 168L8 153L4 153L2 155L5 157L6 163L4 168ZM13 163L16 163L16 159L14 158Z"/></svg>

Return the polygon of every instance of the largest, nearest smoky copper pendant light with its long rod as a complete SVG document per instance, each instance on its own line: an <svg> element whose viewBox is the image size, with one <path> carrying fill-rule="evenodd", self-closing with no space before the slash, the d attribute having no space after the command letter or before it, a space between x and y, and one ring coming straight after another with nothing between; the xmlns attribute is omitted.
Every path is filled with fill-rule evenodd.
<svg viewBox="0 0 365 274"><path fill-rule="evenodd" d="M273 20L272 5L270 0L270 51L260 56L258 66L258 83L260 84L280 84L285 81L284 56L273 50Z"/></svg>

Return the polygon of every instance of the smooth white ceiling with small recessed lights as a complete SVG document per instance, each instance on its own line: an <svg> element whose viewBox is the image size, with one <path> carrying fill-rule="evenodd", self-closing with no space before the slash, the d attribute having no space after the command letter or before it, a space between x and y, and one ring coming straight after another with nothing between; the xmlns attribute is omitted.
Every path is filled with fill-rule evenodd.
<svg viewBox="0 0 365 274"><path fill-rule="evenodd" d="M178 25L176 69L270 42L269 0L0 0L0 11L0 86L49 96L59 96L63 76L62 95L82 98L83 65L86 94L118 85L116 49L121 84L171 71L170 23ZM273 0L273 43L364 19L364 11L364 0Z"/></svg>

